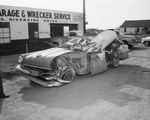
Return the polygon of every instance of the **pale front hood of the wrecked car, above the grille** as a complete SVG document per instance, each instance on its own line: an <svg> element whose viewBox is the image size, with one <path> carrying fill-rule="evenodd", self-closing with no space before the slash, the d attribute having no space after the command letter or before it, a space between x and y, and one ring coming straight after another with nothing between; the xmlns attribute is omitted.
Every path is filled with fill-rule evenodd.
<svg viewBox="0 0 150 120"><path fill-rule="evenodd" d="M55 57L70 52L73 51L65 48L50 48L38 52L31 52L22 55L22 64L28 66L36 66L44 69L50 69L50 63Z"/></svg>

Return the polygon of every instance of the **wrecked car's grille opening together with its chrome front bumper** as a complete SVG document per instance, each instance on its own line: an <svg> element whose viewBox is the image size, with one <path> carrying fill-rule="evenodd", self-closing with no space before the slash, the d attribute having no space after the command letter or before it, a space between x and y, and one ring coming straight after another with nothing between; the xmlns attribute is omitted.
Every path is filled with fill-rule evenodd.
<svg viewBox="0 0 150 120"><path fill-rule="evenodd" d="M35 69L32 66L21 64L17 65L16 69L25 77L45 87L53 87L62 85L63 83L69 83L69 81L67 82L59 79L60 73L56 71L53 72L41 68Z"/></svg>

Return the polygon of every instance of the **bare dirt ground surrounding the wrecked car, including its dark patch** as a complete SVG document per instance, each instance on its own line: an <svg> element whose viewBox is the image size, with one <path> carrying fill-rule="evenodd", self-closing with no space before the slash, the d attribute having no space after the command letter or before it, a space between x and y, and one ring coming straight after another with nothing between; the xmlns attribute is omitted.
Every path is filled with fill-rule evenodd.
<svg viewBox="0 0 150 120"><path fill-rule="evenodd" d="M15 71L18 55L0 58L5 94L0 120L150 120L150 48L135 46L118 68L45 88Z"/></svg>

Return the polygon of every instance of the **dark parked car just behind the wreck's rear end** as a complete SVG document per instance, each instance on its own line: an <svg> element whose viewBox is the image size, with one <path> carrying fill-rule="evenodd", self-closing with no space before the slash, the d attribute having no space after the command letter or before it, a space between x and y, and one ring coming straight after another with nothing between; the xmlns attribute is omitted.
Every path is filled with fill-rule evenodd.
<svg viewBox="0 0 150 120"><path fill-rule="evenodd" d="M118 32L118 38L124 42L124 44L128 45L129 49L132 48L134 45L137 44L137 40L135 38L135 36L133 35L125 35L122 32Z"/></svg>

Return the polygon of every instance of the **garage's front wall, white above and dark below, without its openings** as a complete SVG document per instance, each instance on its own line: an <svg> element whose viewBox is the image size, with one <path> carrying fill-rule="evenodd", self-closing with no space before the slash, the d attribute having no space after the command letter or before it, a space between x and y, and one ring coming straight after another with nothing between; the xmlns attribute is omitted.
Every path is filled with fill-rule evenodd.
<svg viewBox="0 0 150 120"><path fill-rule="evenodd" d="M75 24L78 30L83 32L83 14L78 12L45 10L25 7L12 7L0 5L0 23L10 24L10 41L2 41L0 33L0 54L5 55L25 44L38 45L35 47L45 48L44 41L51 37L50 25L53 24ZM32 41L29 38L29 23L38 24L38 39ZM2 31L0 28L0 32ZM6 35L6 33L5 33ZM30 43L29 43L30 42ZM37 43L36 43L37 42ZM34 43L34 44L33 44ZM47 47L46 47L47 48ZM3 51L3 52L2 52ZM10 52L9 52L10 51ZM34 50L33 50L34 51ZM17 54L18 52L16 52Z"/></svg>

